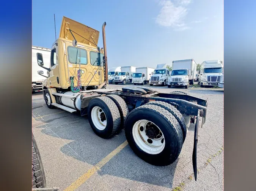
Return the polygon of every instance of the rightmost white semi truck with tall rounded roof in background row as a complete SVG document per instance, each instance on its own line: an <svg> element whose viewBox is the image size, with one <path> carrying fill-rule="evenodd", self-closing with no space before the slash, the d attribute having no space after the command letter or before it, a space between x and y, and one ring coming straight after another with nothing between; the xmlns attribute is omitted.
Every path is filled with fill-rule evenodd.
<svg viewBox="0 0 256 191"><path fill-rule="evenodd" d="M222 72L223 63L220 60L204 61L201 65L198 85L201 87L218 85Z"/></svg>

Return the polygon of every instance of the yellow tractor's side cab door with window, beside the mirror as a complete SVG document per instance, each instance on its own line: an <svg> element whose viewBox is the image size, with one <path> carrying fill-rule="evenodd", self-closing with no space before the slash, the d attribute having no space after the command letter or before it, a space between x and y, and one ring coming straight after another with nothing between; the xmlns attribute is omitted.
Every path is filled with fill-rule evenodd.
<svg viewBox="0 0 256 191"><path fill-rule="evenodd" d="M48 84L52 87L61 88L56 45L54 45L51 50Z"/></svg>

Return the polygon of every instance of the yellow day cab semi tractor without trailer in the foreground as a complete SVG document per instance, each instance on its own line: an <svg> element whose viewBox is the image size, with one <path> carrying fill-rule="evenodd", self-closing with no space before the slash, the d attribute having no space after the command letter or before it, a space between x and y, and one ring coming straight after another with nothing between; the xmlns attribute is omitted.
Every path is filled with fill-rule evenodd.
<svg viewBox="0 0 256 191"><path fill-rule="evenodd" d="M53 43L50 68L37 53L38 65L47 69L42 84L46 105L87 115L97 136L110 138L124 128L132 150L144 161L170 165L181 152L190 123L195 123L193 169L196 179L196 145L199 117L205 123L207 100L185 92L161 93L149 87L107 89L108 65L102 25L99 31L63 17L60 37Z"/></svg>

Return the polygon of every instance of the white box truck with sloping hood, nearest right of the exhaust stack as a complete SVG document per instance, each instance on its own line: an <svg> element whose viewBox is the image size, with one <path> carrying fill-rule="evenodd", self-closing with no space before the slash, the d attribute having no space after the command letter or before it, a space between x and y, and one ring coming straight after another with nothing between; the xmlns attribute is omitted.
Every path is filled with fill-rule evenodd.
<svg viewBox="0 0 256 191"><path fill-rule="evenodd" d="M115 84L123 83L125 85L127 82L132 82L132 74L136 72L136 68L135 66L122 66L121 72L115 76Z"/></svg>

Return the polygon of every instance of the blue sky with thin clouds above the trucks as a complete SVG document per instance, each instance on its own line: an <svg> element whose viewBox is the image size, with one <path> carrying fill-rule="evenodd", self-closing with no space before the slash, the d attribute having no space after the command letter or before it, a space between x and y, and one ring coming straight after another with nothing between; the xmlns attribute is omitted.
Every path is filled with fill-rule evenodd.
<svg viewBox="0 0 256 191"><path fill-rule="evenodd" d="M108 67L223 60L223 0L32 1L32 45L51 48L62 17L100 31L107 22Z"/></svg>

